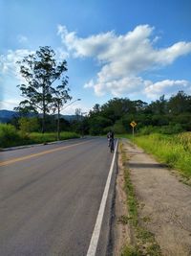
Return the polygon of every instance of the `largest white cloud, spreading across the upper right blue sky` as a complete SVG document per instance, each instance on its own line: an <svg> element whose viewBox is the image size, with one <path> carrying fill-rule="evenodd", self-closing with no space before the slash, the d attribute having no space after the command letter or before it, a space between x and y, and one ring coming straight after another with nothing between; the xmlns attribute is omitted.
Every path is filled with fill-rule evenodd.
<svg viewBox="0 0 191 256"><path fill-rule="evenodd" d="M114 96L142 92L153 97L158 86L145 88L147 82L141 74L172 64L177 58L191 53L191 42L181 41L167 48L155 48L159 36L154 37L153 32L154 27L140 25L125 35L116 35L112 31L82 38L75 32L69 32L65 26L57 28L65 50L74 58L96 58L99 62L101 67L96 80L92 79L84 85L85 88L94 88L98 96L108 92ZM179 82L174 81L173 84ZM161 93L165 86L170 86L166 82L163 84ZM152 88L155 89L153 94Z"/></svg>

